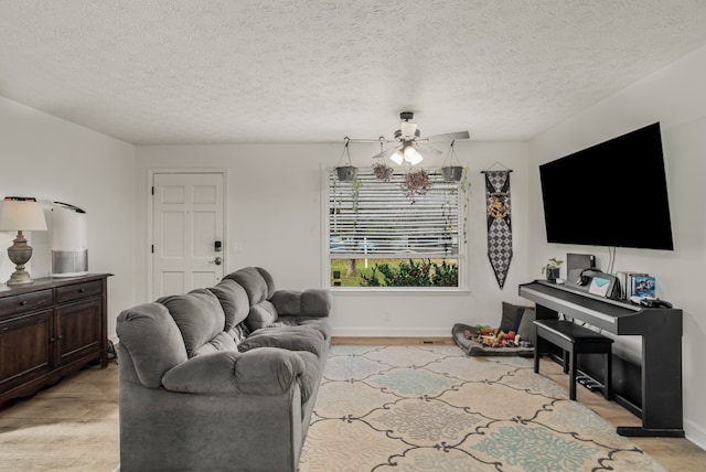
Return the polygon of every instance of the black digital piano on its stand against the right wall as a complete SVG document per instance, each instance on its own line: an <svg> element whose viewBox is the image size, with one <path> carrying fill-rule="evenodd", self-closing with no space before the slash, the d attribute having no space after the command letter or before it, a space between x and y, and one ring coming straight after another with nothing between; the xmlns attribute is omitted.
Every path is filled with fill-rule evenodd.
<svg viewBox="0 0 706 472"><path fill-rule="evenodd" d="M645 308L543 280L520 286L536 303L537 320L558 313L608 333L642 336L642 427L618 427L621 436L683 438L682 310ZM613 379L612 385L618 383Z"/></svg>

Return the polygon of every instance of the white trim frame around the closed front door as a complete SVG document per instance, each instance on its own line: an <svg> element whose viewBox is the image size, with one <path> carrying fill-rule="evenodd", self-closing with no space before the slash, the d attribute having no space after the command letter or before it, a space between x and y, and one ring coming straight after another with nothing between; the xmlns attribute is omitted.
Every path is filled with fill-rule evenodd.
<svg viewBox="0 0 706 472"><path fill-rule="evenodd" d="M164 169L148 169L147 170L147 247L145 257L147 259L147 299L154 300L154 264L152 261L152 244L154 240L154 232L152 228L153 221L153 196L152 186L154 184L154 174L221 174L223 178L223 273L229 273L229 227L228 224L228 202L229 189L228 185L228 169L227 168L164 168Z"/></svg>

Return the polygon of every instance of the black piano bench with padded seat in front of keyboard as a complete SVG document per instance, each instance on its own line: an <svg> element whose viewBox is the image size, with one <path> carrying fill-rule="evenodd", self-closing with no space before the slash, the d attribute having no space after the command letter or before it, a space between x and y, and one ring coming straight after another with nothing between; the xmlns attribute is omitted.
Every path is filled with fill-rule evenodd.
<svg viewBox="0 0 706 472"><path fill-rule="evenodd" d="M539 357L548 352L549 343L564 350L564 373L569 373L569 398L576 400L577 354L606 354L603 396L612 399L611 367L613 340L588 328L565 320L536 320L537 341L534 345L534 372L539 373Z"/></svg>

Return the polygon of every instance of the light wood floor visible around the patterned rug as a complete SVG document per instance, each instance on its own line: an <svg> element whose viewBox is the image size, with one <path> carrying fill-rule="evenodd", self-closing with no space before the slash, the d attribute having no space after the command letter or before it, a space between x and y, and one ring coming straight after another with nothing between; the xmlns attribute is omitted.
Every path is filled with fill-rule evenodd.
<svg viewBox="0 0 706 472"><path fill-rule="evenodd" d="M448 344L450 339L336 337L334 344ZM568 376L543 360L543 375L568 389ZM601 394L578 388L578 400L613 426L640 420ZM670 471L706 470L706 451L686 439L631 438ZM118 366L87 367L35 396L0 406L0 471L111 472L119 461Z"/></svg>

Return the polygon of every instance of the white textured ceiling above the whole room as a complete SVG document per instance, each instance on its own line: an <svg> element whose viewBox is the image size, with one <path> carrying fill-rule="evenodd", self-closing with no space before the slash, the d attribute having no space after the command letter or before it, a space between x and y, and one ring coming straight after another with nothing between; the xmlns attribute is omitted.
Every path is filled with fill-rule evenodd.
<svg viewBox="0 0 706 472"><path fill-rule="evenodd" d="M0 0L0 96L136 144L516 140L704 44L704 0Z"/></svg>

